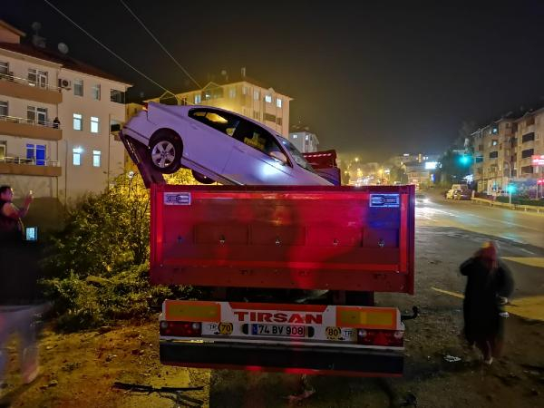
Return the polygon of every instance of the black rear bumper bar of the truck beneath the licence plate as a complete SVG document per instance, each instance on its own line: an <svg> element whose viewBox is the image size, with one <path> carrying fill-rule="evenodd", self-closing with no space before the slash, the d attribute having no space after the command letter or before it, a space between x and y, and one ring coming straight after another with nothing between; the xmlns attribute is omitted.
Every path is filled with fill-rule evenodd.
<svg viewBox="0 0 544 408"><path fill-rule="evenodd" d="M305 374L400 376L403 352L340 347L227 343L160 343L160 363Z"/></svg>

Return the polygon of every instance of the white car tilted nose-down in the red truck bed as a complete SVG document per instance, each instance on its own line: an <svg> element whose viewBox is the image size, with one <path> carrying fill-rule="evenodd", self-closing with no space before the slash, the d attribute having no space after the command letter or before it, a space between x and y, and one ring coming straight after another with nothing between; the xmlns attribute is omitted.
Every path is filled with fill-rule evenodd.
<svg viewBox="0 0 544 408"><path fill-rule="evenodd" d="M122 132L148 146L164 174L184 166L207 184L332 185L276 131L219 108L151 102Z"/></svg>

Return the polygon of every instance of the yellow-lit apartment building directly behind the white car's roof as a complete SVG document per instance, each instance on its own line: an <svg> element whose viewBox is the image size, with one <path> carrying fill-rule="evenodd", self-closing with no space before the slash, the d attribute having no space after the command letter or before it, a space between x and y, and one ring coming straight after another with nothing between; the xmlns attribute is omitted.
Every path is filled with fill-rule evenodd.
<svg viewBox="0 0 544 408"><path fill-rule="evenodd" d="M248 78L245 68L242 68L239 78L235 81L229 79L227 73L223 72L219 80L210 81L202 89L175 95L167 92L146 102L207 105L227 109L260 121L287 138L289 102L292 100L287 95Z"/></svg>

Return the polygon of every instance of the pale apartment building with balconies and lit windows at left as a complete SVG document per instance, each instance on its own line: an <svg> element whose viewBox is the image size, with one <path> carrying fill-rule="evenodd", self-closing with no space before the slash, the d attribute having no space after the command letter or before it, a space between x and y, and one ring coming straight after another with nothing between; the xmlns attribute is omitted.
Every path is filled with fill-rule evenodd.
<svg viewBox="0 0 544 408"><path fill-rule="evenodd" d="M124 168L111 129L131 84L24 36L0 21L0 183L62 204L103 191Z"/></svg>

